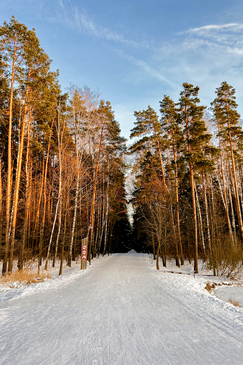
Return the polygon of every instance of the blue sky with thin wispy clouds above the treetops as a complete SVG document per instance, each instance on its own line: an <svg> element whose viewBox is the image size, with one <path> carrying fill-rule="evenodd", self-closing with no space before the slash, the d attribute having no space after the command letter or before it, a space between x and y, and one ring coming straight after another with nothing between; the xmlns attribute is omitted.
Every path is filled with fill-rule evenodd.
<svg viewBox="0 0 243 365"><path fill-rule="evenodd" d="M15 15L35 28L63 91L99 88L126 138L134 110L158 111L164 94L177 101L184 81L209 107L226 80L243 114L242 1L0 0L0 9L1 24Z"/></svg>

